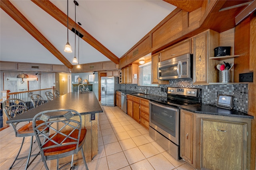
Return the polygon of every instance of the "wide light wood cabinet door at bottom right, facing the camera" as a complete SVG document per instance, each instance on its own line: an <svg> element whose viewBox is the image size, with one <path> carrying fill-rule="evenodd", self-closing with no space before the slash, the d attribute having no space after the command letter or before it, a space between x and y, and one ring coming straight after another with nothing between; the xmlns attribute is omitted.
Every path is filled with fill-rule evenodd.
<svg viewBox="0 0 256 170"><path fill-rule="evenodd" d="M201 168L246 169L247 123L202 119Z"/></svg>

